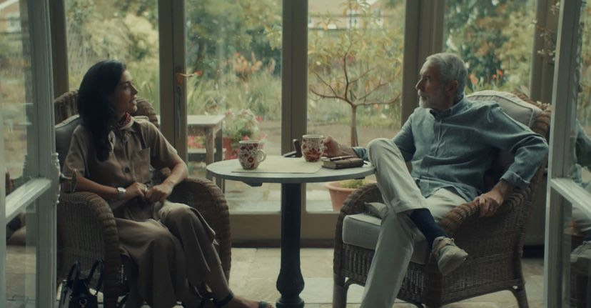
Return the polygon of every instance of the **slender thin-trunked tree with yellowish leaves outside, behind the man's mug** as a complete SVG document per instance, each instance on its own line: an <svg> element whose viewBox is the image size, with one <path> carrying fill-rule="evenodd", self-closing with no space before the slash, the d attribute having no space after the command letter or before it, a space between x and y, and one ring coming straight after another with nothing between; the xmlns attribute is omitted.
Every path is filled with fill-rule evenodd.
<svg viewBox="0 0 591 308"><path fill-rule="evenodd" d="M400 20L395 14L403 11L403 3L392 3L345 1L343 14L321 16L319 30L308 32L310 92L320 101L350 106L352 146L358 145L358 107L396 104L400 99L403 31L388 22Z"/></svg>

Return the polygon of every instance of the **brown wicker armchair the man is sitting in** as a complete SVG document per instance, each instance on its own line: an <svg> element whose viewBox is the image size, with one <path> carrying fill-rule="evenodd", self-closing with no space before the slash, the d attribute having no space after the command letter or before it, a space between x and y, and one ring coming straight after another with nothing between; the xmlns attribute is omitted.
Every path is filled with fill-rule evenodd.
<svg viewBox="0 0 591 308"><path fill-rule="evenodd" d="M516 94L523 101L542 109L532 119L531 129L548 137L550 108ZM504 108L504 107L503 107ZM502 159L497 159L501 161ZM516 189L492 217L480 217L474 202L459 204L440 220L440 226L459 247L468 252L468 259L455 271L443 277L433 255L426 264L410 262L398 299L417 307L440 307L479 295L510 290L520 308L527 307L522 275L521 257L527 217L532 207L532 196L545 171L547 159L538 169L530 185ZM488 179L490 187L505 170L494 162ZM489 176L488 176L489 177ZM366 184L348 197L340 210L335 232L333 307L344 308L350 284L364 285L368 277L374 250L343 242L343 219L347 215L368 213L366 202L383 202L376 184ZM375 247L375 246L374 246ZM425 245L426 247L426 245ZM345 280L346 279L346 280Z"/></svg>

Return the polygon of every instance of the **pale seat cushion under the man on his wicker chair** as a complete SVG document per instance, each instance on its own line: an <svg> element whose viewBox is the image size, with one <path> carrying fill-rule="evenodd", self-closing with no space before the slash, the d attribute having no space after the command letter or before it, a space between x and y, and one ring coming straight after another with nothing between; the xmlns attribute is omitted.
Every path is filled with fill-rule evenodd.
<svg viewBox="0 0 591 308"><path fill-rule="evenodd" d="M347 215L343 219L343 243L375 250L381 224L381 219L370 214ZM410 261L425 264L428 262L429 254L427 240L424 237L417 237Z"/></svg>

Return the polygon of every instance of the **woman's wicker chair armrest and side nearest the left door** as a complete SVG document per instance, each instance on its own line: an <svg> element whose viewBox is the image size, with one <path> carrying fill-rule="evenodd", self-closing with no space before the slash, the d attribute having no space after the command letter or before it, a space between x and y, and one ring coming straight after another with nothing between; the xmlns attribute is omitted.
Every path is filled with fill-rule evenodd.
<svg viewBox="0 0 591 308"><path fill-rule="evenodd" d="M103 291L118 294L121 288L121 255L115 217L108 203L91 192L61 194L57 205L58 277L66 277L79 260L88 271L103 258ZM116 300L116 299L115 299Z"/></svg>

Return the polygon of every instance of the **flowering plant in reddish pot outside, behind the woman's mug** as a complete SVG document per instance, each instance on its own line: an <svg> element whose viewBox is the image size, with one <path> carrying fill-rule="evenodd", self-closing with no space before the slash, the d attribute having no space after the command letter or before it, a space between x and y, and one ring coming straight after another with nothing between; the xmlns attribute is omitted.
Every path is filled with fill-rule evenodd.
<svg viewBox="0 0 591 308"><path fill-rule="evenodd" d="M223 147L226 149L226 159L238 157L238 141L265 138L258 125L261 117L256 116L251 109L242 109L234 112L232 109L226 111L226 118L223 123Z"/></svg>

